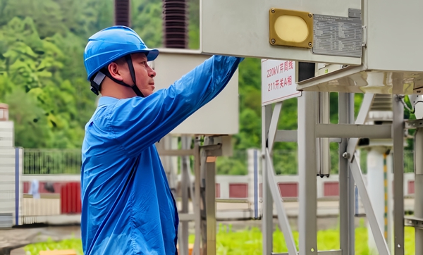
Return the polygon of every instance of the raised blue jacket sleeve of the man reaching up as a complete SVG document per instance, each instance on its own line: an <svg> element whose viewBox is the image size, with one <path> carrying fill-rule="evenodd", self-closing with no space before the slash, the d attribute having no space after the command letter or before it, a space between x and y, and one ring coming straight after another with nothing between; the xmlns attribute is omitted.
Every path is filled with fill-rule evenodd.
<svg viewBox="0 0 423 255"><path fill-rule="evenodd" d="M214 99L243 58L212 56L167 89L149 97L119 100L111 110L111 131L118 143L136 156Z"/></svg>

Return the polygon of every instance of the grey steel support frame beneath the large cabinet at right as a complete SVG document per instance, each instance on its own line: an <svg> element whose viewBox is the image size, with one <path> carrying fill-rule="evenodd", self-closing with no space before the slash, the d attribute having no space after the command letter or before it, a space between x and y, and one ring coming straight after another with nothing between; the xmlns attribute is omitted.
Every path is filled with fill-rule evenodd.
<svg viewBox="0 0 423 255"><path fill-rule="evenodd" d="M341 250L336 251L339 254L355 254L355 224L354 224L354 188L357 183L357 189L369 216L372 233L376 240L376 246L379 254L391 254L383 233L377 225L374 210L369 200L367 189L364 185L360 166L356 161L355 149L360 137L392 137L394 141L394 175L396 182L394 186L395 199L395 254L403 255L403 106L398 100L393 101L394 121L392 125L386 125L382 128L382 132L375 132L374 126L364 126L369 113L370 107L374 99L374 94L364 94L364 100L358 113L357 120L354 121L354 94L339 93L339 124L337 128L348 128L346 135L342 135L338 131L329 134L324 127L335 128L336 125L317 124L315 115L315 107L317 106L316 92L303 92L302 97L298 98L298 131L295 136L295 130L277 130L277 121L281 111L281 105L275 106L272 117L271 106L263 106L262 108L262 148L265 160L263 162L263 254L271 253L273 238L273 227L271 225L271 147L274 142L298 142L298 173L300 177L300 213L299 213L299 232L300 232L300 252L299 254L317 254L317 197L316 197L316 171L317 171L317 137L338 137L339 141L339 174L340 174L340 216L341 216ZM348 125L348 126L345 126ZM388 130L391 129L391 135ZM360 135L361 134L361 135ZM355 137L353 137L353 135ZM295 136L295 137L294 137ZM353 138L349 138L353 137ZM348 139L349 138L349 139ZM269 148L266 151L266 148ZM423 181L423 180L422 180ZM283 210L281 215L283 215ZM373 220L372 220L373 219ZM373 222L373 223L372 223ZM422 248L423 249L423 248ZM319 254L321 252L319 251ZM323 251L324 253L324 251ZM289 253L290 254L290 253Z"/></svg>

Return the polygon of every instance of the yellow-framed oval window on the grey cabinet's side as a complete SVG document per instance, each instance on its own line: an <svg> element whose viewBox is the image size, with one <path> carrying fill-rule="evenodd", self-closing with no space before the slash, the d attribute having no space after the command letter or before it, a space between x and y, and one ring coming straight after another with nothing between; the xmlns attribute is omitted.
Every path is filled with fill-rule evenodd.
<svg viewBox="0 0 423 255"><path fill-rule="evenodd" d="M271 45L311 48L313 46L313 15L304 11L271 8L269 35Z"/></svg>

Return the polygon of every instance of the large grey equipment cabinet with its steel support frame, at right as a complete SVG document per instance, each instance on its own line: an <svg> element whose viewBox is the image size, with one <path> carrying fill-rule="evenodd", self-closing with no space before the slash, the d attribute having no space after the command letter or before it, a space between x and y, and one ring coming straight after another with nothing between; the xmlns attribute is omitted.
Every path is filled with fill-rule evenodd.
<svg viewBox="0 0 423 255"><path fill-rule="evenodd" d="M273 204L278 211L288 254L355 254L355 187L362 199L378 254L404 254L405 223L415 226L416 254L423 254L420 229L423 222L423 166L420 162L423 120L405 121L403 118L404 95L413 99L423 93L420 45L423 34L419 32L423 2L202 0L200 8L203 53L295 61L295 82L300 92L295 95L298 97L298 130L278 130L284 99L279 92L273 93L273 100L262 104L263 254L276 254L272 251ZM263 81L262 93L274 88L276 81L272 82L269 77ZM281 85L280 80L278 85ZM339 93L338 124L329 123L327 118L329 92ZM355 93L364 94L357 118ZM391 123L366 124L369 111L378 104L386 105L386 99L392 112ZM412 218L404 216L405 128L418 129L415 137L415 215ZM369 188L364 184L357 163L356 149L361 138L392 139L392 241L386 240L377 223ZM298 250L274 181L271 154L275 142L298 143ZM340 249L318 251L316 178L329 175L325 163L325 148L329 142L339 144Z"/></svg>

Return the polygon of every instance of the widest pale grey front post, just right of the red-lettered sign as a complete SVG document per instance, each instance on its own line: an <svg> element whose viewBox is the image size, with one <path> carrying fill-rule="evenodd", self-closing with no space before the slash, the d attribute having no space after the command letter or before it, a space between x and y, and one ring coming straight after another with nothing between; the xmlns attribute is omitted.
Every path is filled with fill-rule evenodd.
<svg viewBox="0 0 423 255"><path fill-rule="evenodd" d="M317 92L302 92L298 98L298 216L300 255L317 254Z"/></svg>

